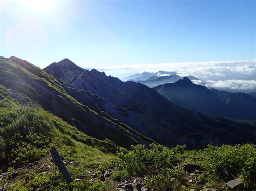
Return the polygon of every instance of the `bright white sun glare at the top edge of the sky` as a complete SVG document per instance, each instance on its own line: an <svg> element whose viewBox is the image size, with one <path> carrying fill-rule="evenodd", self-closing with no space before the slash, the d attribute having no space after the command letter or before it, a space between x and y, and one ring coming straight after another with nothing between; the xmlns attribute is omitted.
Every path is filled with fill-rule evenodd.
<svg viewBox="0 0 256 191"><path fill-rule="evenodd" d="M35 11L49 10L53 7L53 0L18 0L18 3Z"/></svg>

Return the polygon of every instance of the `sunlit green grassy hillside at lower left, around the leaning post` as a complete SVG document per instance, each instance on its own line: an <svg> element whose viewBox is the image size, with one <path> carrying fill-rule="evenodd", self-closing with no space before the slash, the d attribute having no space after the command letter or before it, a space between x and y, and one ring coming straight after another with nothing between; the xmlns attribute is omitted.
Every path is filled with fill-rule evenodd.
<svg viewBox="0 0 256 191"><path fill-rule="evenodd" d="M113 158L111 152L116 146L109 140L98 140L78 131L62 119L53 116L40 107L28 107L19 104L0 85L0 165L7 165L8 171L25 166L49 154L51 147L56 147L66 160L75 160L81 164L93 164L95 161ZM43 161L52 166L45 172L29 172L25 178L15 181L11 189L41 188L61 178L53 173L55 166L49 158ZM43 165L39 164L38 166ZM53 170L54 169L54 170ZM70 168L71 173L79 174L78 167ZM1 170L0 170L1 173ZM19 172L23 173L23 171ZM11 180L9 176L8 179ZM0 187L6 179L0 181ZM73 187L85 185L89 190L109 187L105 182L74 182ZM51 188L61 189L68 186L59 181Z"/></svg>

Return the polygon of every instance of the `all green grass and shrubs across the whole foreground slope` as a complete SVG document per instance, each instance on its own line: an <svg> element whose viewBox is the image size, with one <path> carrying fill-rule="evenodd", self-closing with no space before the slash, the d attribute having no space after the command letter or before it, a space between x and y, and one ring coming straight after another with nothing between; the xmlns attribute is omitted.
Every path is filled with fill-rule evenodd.
<svg viewBox="0 0 256 191"><path fill-rule="evenodd" d="M12 169L24 166L49 154L51 146L58 148L65 160L79 165L68 165L70 173L80 181L72 187L87 190L114 189L118 182L132 181L141 176L144 185L155 190L201 188L196 182L187 183L188 174L183 169L185 162L201 167L196 180L203 179L212 187L226 189L223 170L232 178L241 178L245 187L256 186L256 148L254 145L208 146L205 150L188 151L184 146L167 148L151 144L132 146L131 150L116 146L109 140L98 140L78 131L74 126L44 111L40 107L27 107L13 100L7 90L0 86L0 161ZM198 159L184 159L181 158ZM51 159L44 161L52 165L45 172L29 172L24 179L10 185L12 189L41 188L53 181L50 189L67 189L68 185L55 172ZM97 165L100 162L101 165ZM96 164L96 165L95 165ZM83 166L84 165L84 166ZM100 177L110 170L111 181ZM95 174L96 181L85 178L87 173Z"/></svg>

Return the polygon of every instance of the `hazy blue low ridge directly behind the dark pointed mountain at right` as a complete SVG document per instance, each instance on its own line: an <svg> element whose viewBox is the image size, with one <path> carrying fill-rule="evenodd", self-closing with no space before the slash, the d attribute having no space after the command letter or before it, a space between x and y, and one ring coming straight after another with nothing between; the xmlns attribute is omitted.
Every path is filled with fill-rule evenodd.
<svg viewBox="0 0 256 191"><path fill-rule="evenodd" d="M197 77L194 76L187 76L188 79L190 80L199 80ZM183 77L177 75L177 74L172 74L172 75L164 75L164 76L152 76L147 80L144 81L138 81L139 83L145 84L148 87L156 87L159 86L160 84L165 84L165 83L174 83L177 82L178 80L183 79Z"/></svg>

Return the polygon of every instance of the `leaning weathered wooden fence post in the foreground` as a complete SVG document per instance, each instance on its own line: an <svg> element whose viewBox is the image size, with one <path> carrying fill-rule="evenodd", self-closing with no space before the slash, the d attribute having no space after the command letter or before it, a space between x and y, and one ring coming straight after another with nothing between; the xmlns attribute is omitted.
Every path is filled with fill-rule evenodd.
<svg viewBox="0 0 256 191"><path fill-rule="evenodd" d="M56 166L58 166L59 172L62 173L64 180L69 185L72 182L72 178L62 160L62 157L60 156L60 154L56 148L52 148L52 150L50 152L51 152L52 159L55 160L55 164L56 164Z"/></svg>

